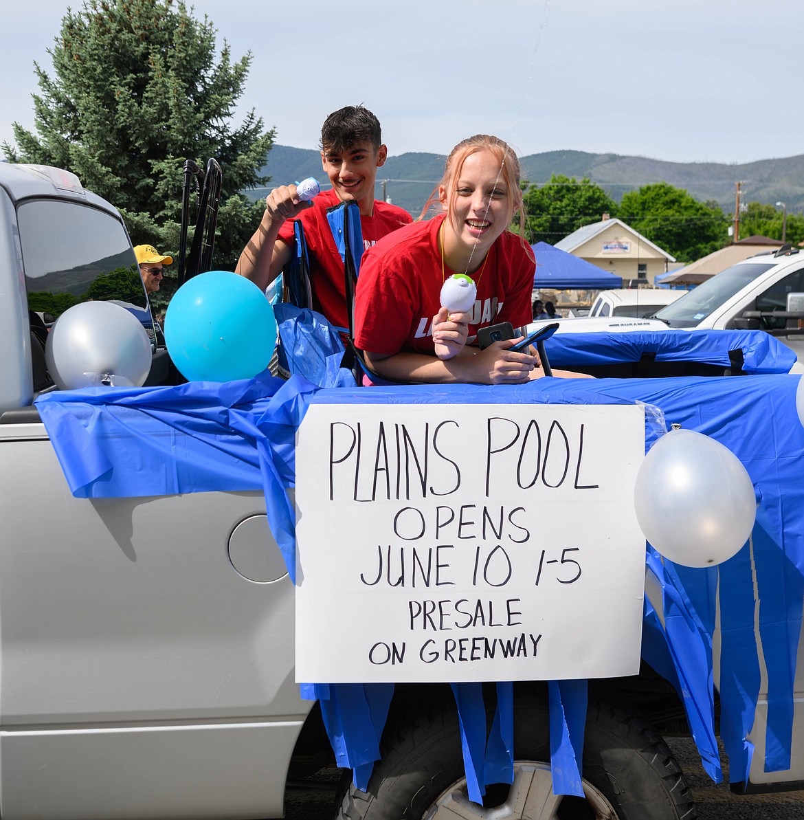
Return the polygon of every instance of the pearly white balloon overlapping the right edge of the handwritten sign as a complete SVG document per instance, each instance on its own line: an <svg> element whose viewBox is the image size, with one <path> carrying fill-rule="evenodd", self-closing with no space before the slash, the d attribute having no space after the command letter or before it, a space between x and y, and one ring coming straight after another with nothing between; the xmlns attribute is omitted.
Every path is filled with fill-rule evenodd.
<svg viewBox="0 0 804 820"><path fill-rule="evenodd" d="M731 450L693 430L670 430L639 467L634 508L645 537L665 558L711 567L748 540L756 496Z"/></svg>

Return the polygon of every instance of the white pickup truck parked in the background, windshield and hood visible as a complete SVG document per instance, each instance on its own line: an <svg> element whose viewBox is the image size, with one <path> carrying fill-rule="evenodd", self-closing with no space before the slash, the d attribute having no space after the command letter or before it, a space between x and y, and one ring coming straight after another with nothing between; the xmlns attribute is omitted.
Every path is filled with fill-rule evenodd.
<svg viewBox="0 0 804 820"><path fill-rule="evenodd" d="M639 291L636 291L638 294ZM804 373L804 257L784 245L738 262L670 304L640 317L560 321L558 333L630 330L765 330L797 354L794 373Z"/></svg>

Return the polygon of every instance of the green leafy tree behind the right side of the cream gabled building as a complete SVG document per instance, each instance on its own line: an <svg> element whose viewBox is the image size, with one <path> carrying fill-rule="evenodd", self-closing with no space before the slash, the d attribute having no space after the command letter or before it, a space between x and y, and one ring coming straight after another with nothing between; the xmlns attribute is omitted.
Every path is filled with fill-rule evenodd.
<svg viewBox="0 0 804 820"><path fill-rule="evenodd" d="M629 191L620 219L679 262L694 262L729 244L729 217L715 202L699 202L666 182Z"/></svg>

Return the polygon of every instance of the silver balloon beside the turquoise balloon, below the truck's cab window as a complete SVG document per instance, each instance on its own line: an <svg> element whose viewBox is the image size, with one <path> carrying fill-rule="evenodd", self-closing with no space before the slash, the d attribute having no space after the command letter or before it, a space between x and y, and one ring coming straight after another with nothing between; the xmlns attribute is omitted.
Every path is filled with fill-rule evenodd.
<svg viewBox="0 0 804 820"><path fill-rule="evenodd" d="M151 370L151 341L139 319L111 302L82 302L56 320L45 362L62 390L141 386Z"/></svg>

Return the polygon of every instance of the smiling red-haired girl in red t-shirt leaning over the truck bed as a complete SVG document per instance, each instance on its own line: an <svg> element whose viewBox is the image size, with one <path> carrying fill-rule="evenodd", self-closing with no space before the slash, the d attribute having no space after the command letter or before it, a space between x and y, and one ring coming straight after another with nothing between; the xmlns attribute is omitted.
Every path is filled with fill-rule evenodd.
<svg viewBox="0 0 804 820"><path fill-rule="evenodd" d="M421 221L434 203L443 214ZM371 370L393 380L477 384L543 375L533 348L510 349L522 335L484 350L475 344L480 327L532 321L535 260L525 240L507 230L515 213L524 224L511 148L488 134L457 144L420 221L381 239L361 262L355 341ZM470 311L450 316L439 298L454 273L475 280L477 298Z"/></svg>

